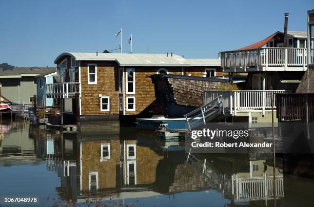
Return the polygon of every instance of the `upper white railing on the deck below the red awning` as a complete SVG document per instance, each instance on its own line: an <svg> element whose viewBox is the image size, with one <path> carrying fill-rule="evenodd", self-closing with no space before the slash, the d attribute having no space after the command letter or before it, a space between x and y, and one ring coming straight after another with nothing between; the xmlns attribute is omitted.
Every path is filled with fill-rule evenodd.
<svg viewBox="0 0 314 207"><path fill-rule="evenodd" d="M223 69L246 69L265 67L301 67L306 69L306 48L257 48L221 52ZM313 56L313 51L311 51Z"/></svg>

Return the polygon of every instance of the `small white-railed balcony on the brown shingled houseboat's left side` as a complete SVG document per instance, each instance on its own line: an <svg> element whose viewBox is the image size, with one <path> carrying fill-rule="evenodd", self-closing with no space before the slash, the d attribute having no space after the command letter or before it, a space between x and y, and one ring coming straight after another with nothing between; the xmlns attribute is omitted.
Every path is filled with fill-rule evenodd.
<svg viewBox="0 0 314 207"><path fill-rule="evenodd" d="M80 95L81 84L79 82L62 82L46 85L47 98L75 98Z"/></svg>

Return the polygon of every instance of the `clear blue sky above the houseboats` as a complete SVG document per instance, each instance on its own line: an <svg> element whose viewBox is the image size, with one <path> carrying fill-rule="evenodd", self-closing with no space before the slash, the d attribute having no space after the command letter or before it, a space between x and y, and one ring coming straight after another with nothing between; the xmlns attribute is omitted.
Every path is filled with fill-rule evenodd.
<svg viewBox="0 0 314 207"><path fill-rule="evenodd" d="M217 58L283 30L306 30L305 1L4 1L0 0L0 63L54 66L62 52L173 52L186 58Z"/></svg>

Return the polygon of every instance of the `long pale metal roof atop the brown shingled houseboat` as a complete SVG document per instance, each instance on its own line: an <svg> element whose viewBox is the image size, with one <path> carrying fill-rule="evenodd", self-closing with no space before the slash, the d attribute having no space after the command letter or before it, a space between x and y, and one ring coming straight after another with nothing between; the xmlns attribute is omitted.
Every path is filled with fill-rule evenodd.
<svg viewBox="0 0 314 207"><path fill-rule="evenodd" d="M185 59L176 54L140 54L140 53L74 53L60 54L54 63L63 56L70 55L75 60L112 60L120 66L220 66L216 59ZM202 60L202 61L201 61Z"/></svg>

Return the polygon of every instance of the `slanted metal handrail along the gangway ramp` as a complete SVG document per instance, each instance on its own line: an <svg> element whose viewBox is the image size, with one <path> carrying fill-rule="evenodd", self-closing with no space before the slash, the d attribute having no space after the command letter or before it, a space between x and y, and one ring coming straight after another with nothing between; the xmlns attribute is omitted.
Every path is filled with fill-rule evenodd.
<svg viewBox="0 0 314 207"><path fill-rule="evenodd" d="M200 117L200 115L202 115L202 118L203 119L203 123L205 124L206 123L206 120L205 118L210 116L212 113L209 113L209 114L206 114L206 112L209 112L210 110L216 108L216 107L219 107L219 112L223 112L224 113L224 105L223 105L223 99L222 99L222 95L219 95L218 97L214 98L213 100L211 100L210 102L208 103L205 103L203 106L201 106L200 108L198 109L195 109L185 115L183 115L183 117L186 118L186 121L187 121L187 124L188 124L188 128L189 128L189 131L191 131L191 125L189 123L189 120L194 120L195 118L198 118ZM217 103L215 103L217 101ZM213 106L212 104L215 103ZM208 108L210 107L210 108ZM195 114L197 112L201 112L201 113L198 113L197 115L193 116L193 117L188 117L192 114ZM197 119L195 122L199 121L200 119Z"/></svg>

